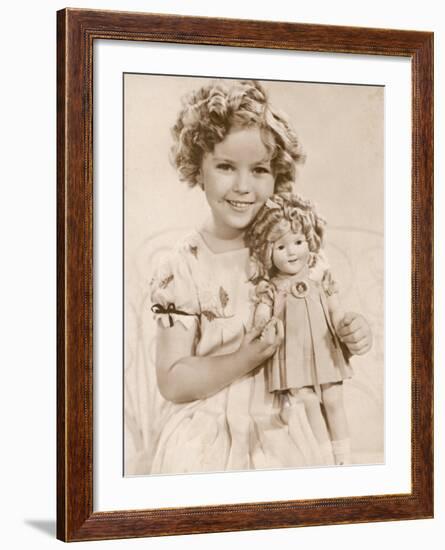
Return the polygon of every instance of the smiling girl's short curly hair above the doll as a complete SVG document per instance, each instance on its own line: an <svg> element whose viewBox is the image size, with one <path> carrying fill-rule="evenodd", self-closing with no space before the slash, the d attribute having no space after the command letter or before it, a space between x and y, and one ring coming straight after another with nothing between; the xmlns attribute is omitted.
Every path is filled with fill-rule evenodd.
<svg viewBox="0 0 445 550"><path fill-rule="evenodd" d="M212 152L233 127L258 127L271 153L275 192L292 190L295 165L304 160L286 116L275 110L256 81L213 82L183 98L172 128L171 160L181 181L198 183L202 157Z"/></svg>

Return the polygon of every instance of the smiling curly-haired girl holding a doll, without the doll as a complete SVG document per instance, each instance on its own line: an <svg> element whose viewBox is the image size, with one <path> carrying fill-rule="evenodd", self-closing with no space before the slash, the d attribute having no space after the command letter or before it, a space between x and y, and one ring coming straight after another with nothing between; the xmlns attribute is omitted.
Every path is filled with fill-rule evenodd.
<svg viewBox="0 0 445 550"><path fill-rule="evenodd" d="M252 328L244 243L266 200L292 188L301 159L296 135L260 84L228 81L187 96L173 136L180 179L203 190L209 212L161 262L151 284L156 374L165 398L151 472L319 464L304 406L292 438L266 389L261 365L280 336L266 342ZM355 319L358 332L348 345L360 352L370 331L362 317Z"/></svg>

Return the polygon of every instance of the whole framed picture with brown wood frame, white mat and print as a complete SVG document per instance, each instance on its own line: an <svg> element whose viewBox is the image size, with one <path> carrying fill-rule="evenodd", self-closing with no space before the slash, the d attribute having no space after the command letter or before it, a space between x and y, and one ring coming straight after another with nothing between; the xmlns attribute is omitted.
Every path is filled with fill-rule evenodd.
<svg viewBox="0 0 445 550"><path fill-rule="evenodd" d="M65 9L64 541L433 516L433 34Z"/></svg>

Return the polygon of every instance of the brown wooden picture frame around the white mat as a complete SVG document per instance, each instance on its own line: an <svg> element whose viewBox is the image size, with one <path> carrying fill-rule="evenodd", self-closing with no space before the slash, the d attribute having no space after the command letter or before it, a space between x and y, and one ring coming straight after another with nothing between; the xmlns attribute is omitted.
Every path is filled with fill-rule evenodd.
<svg viewBox="0 0 445 550"><path fill-rule="evenodd" d="M398 56L412 66L411 492L93 511L93 43ZM65 9L57 14L57 537L64 541L433 516L433 34Z"/></svg>

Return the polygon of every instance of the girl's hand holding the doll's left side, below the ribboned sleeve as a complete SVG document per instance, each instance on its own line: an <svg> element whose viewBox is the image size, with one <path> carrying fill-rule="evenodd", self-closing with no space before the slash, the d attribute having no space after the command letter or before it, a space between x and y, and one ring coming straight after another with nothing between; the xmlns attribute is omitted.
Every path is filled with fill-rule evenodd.
<svg viewBox="0 0 445 550"><path fill-rule="evenodd" d="M267 340L261 339L264 330L262 328L253 328L244 335L237 355L239 360L245 361L250 366L249 370L269 359L283 340L283 324L276 319L272 319L271 322L274 324L275 334L271 330Z"/></svg>

